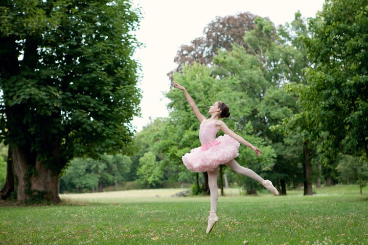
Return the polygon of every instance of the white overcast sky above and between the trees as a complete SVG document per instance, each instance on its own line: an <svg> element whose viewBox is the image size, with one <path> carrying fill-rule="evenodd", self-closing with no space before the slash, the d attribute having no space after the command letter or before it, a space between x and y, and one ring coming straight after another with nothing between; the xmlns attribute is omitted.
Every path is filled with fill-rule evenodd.
<svg viewBox="0 0 368 245"><path fill-rule="evenodd" d="M324 0L132 0L141 6L143 19L136 32L145 47L136 50L135 59L142 65L142 117L132 125L142 130L156 117L169 115L163 92L170 88L168 72L176 67L174 57L182 44L203 35L203 29L216 16L241 12L269 17L278 26L294 19L300 10L303 17L314 17Z"/></svg>

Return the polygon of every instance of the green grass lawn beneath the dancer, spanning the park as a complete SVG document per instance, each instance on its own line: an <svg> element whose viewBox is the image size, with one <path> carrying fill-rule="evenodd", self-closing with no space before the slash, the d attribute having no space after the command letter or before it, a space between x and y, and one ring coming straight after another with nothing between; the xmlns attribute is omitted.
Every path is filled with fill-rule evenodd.
<svg viewBox="0 0 368 245"><path fill-rule="evenodd" d="M182 189L61 195L62 205L0 207L0 244L368 244L368 188L258 197L226 190L205 234L209 197Z"/></svg>

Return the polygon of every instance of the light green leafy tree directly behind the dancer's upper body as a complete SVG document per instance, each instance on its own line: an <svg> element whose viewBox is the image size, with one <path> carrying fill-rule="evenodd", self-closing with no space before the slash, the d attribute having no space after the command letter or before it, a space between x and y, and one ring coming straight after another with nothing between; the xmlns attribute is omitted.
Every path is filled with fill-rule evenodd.
<svg viewBox="0 0 368 245"><path fill-rule="evenodd" d="M238 51L243 52L241 53L242 55L237 53ZM244 62L240 62L239 59L242 59ZM174 79L187 88L194 101L196 101L197 107L202 112L208 110L209 105L218 100L228 104L231 108L231 116L224 119L228 127L264 151L262 157L257 158L254 153L245 153L246 149L241 148L239 162L244 165L249 164L249 167L256 167L262 173L269 172L274 164L273 158L275 155L273 150L266 146L265 142L259 137L252 136L255 131L254 127L250 122L247 122L247 120L252 118L252 110L257 107L256 102L259 94L263 91L262 87L259 87L257 79L250 79L252 74L259 72L258 66L251 65L251 62L256 62L256 60L252 56L247 55L243 48L234 47L231 53L222 53L219 57L215 57L214 61L219 63L216 76L221 79L215 79L212 76L211 68L200 65L185 67L184 73L174 75ZM242 66L244 64L246 67ZM239 69L236 67L239 67ZM228 68L233 68L233 72L231 72L233 76L226 75L225 70L228 70ZM244 72L238 74L240 70ZM264 80L261 74L259 74L259 78ZM248 88L254 88L254 90L249 89L248 91ZM176 122L174 130L178 133L172 139L181 145L181 147L175 146L175 148L185 150L180 152L184 155L190 149L198 147L200 144L198 140L199 122L189 105L182 103L185 98L181 91L172 90L167 96L169 99L172 99L172 103L169 104L173 109L170 116L172 121ZM176 159L178 159L177 156ZM181 161L180 164L182 165ZM188 170L185 169L185 171ZM233 175L229 176L233 177L233 182L243 178Z"/></svg>

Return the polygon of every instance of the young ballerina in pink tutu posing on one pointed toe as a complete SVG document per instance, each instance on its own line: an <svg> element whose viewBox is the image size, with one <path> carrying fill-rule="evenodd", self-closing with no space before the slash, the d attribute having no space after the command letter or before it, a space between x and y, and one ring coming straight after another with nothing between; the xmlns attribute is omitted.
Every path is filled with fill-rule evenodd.
<svg viewBox="0 0 368 245"><path fill-rule="evenodd" d="M225 164L236 173L258 181L274 195L278 195L279 191L272 185L271 181L262 179L262 177L256 174L253 170L242 167L237 163L237 161L235 161L234 158L239 155L238 150L240 143L255 151L257 156L260 156L262 152L256 146L246 141L243 137L230 130L226 126L225 122L219 120L219 118L228 117L230 115L228 106L221 101L217 101L215 104L210 106L208 111L211 117L206 118L199 112L187 89L175 82L173 85L184 92L189 105L200 122L199 141L201 146L192 149L190 153L182 156L182 161L187 168L192 171L208 173L211 193L211 209L206 230L206 233L208 234L219 221L219 218L216 215L216 210L218 199L217 174L218 166L220 164ZM225 135L216 138L216 134L219 130L222 130Z"/></svg>

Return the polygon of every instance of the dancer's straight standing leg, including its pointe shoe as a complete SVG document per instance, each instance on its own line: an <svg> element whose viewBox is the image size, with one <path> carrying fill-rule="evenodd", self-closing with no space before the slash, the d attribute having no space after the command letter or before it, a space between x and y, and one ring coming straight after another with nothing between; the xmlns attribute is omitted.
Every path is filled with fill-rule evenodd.
<svg viewBox="0 0 368 245"><path fill-rule="evenodd" d="M206 233L210 233L214 225L218 222L219 218L216 215L217 210L217 199L218 199L218 189L217 189L217 174L218 174L218 167L213 171L207 172L209 177L209 187L211 193L211 211L210 216L208 219L208 226Z"/></svg>

